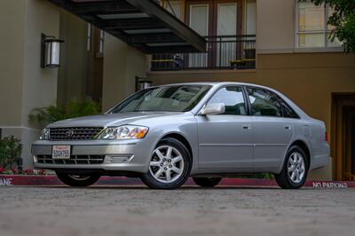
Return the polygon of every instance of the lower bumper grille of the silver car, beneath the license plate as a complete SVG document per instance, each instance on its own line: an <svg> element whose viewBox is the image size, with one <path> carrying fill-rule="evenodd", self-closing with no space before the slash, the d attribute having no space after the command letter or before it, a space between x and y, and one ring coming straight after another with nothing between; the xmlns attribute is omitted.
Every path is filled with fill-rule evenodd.
<svg viewBox="0 0 355 236"><path fill-rule="evenodd" d="M72 164L72 165L90 165L102 164L105 155L71 155L70 159L52 159L51 155L36 156L37 163L42 164Z"/></svg>

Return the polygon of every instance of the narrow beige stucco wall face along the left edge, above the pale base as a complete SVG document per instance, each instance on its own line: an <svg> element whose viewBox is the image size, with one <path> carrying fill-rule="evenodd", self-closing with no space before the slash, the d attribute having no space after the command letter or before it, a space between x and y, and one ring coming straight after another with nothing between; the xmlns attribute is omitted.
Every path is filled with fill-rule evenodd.
<svg viewBox="0 0 355 236"><path fill-rule="evenodd" d="M25 2L0 1L0 125L20 125L25 53Z"/></svg>

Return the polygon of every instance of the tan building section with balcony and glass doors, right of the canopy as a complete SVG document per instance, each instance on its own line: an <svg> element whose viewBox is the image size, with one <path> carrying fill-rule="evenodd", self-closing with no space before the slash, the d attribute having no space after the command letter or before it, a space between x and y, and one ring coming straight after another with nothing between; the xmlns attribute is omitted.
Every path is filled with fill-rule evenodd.
<svg viewBox="0 0 355 236"><path fill-rule="evenodd" d="M327 124L333 161L311 177L354 179L355 56L328 39L332 9L296 0L163 4L206 36L209 51L180 54L179 63L154 55L154 84L238 81L280 90Z"/></svg>

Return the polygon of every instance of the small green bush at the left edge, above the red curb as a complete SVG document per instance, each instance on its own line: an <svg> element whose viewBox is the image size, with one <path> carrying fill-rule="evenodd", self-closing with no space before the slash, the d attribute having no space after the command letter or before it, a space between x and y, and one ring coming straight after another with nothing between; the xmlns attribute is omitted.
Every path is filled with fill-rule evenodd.
<svg viewBox="0 0 355 236"><path fill-rule="evenodd" d="M20 139L11 136L0 140L0 167L12 169L20 161L21 152Z"/></svg>

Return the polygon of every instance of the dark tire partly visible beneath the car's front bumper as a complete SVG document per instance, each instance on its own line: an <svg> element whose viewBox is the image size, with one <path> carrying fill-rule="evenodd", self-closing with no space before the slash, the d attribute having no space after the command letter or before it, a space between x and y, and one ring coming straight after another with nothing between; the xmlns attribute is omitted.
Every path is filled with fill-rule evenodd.
<svg viewBox="0 0 355 236"><path fill-rule="evenodd" d="M95 184L99 180L99 175L77 176L69 175L67 173L56 172L57 177L63 184L72 187L87 187Z"/></svg>

